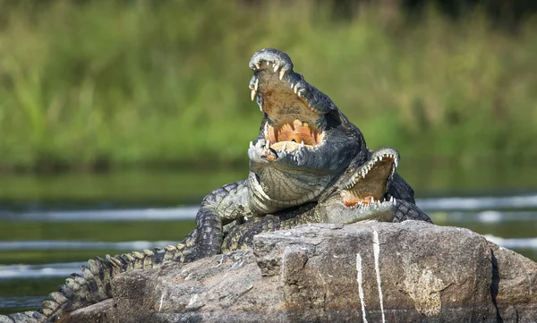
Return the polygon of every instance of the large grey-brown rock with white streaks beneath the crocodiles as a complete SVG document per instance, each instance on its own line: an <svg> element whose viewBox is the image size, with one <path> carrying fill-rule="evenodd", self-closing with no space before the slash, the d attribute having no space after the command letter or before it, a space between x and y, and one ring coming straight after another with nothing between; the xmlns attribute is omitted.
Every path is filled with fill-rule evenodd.
<svg viewBox="0 0 537 323"><path fill-rule="evenodd" d="M537 263L470 230L303 225L253 251L115 277L63 322L534 322Z"/></svg>

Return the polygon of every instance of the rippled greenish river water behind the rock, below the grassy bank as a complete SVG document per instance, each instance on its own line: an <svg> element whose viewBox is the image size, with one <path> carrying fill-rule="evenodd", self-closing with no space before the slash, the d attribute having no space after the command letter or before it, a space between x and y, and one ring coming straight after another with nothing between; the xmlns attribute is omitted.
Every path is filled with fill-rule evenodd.
<svg viewBox="0 0 537 323"><path fill-rule="evenodd" d="M233 181L227 177L243 176L224 174L222 177L222 183L226 183ZM158 180L163 179L157 177ZM214 188L222 183L206 185ZM533 185L527 183L524 189L507 184L501 190L489 187L431 190L433 186L417 186L418 196L419 191L427 191L430 196L418 199L417 204L435 224L467 227L492 242L537 260L537 185L534 191L527 187ZM159 188L166 191L160 195L151 191L152 199L137 197L119 201L98 195L82 202L72 202L72 197L61 202L62 194L50 200L48 195L47 199L43 196L13 199L11 191L11 199L2 202L9 195L2 190L0 313L38 307L47 293L55 291L72 272L80 272L80 266L93 256L141 251L180 241L192 230L198 207L176 203L201 200L211 191L204 186L192 188L200 192L196 196L183 195L176 202L172 199L181 194L170 191L170 186ZM137 194L145 196L143 191Z"/></svg>

